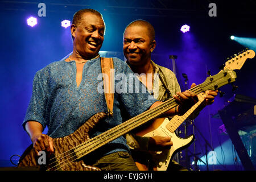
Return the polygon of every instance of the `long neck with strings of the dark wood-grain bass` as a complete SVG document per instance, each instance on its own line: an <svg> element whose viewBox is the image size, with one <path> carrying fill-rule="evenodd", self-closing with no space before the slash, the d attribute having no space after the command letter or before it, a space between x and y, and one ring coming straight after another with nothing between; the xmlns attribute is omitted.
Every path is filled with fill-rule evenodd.
<svg viewBox="0 0 256 182"><path fill-rule="evenodd" d="M197 85L189 90L191 90L196 94L203 92L200 85ZM131 118L126 122L123 122L121 125L115 126L112 129L105 131L104 133L97 135L92 139L87 140L86 142L73 148L73 150L76 153L77 159L89 154L90 152L104 146L109 142L112 142L114 139L117 139L122 135L129 133L131 130L135 129L138 126L143 125L144 123L150 121L151 119L159 117L160 115L174 108L177 105L178 104L175 101L175 99L171 98L170 100L163 102L163 104L160 104L147 111L144 111L142 114L139 114L136 117Z"/></svg>

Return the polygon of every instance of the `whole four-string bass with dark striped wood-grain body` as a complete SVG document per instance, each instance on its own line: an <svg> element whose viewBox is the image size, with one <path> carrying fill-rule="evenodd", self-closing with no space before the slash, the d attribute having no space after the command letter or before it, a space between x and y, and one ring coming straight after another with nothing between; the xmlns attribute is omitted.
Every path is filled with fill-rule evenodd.
<svg viewBox="0 0 256 182"><path fill-rule="evenodd" d="M226 69L217 75L208 77L202 84L196 85L190 90L196 94L205 92L206 90L216 90L221 86L232 83L236 80L236 72ZM92 151L97 150L105 144L113 141L129 133L129 131L142 126L144 123L159 117L166 111L177 106L174 98L163 102L152 109L144 111L134 118L129 119L122 124L97 135L94 138L89 138L89 131L100 121L106 117L105 113L96 113L88 119L79 129L71 135L63 138L53 138L53 147L55 148L53 154L47 158L46 165L39 165L39 156L35 154L32 144L23 152L19 159L18 167L37 167L47 171L56 170L81 170L91 171L100 170L97 167L86 165L81 159Z"/></svg>

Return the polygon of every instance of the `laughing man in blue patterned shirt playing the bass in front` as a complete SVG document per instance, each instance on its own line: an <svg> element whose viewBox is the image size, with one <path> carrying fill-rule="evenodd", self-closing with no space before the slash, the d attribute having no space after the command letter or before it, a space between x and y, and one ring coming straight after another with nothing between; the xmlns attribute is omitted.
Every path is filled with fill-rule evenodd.
<svg viewBox="0 0 256 182"><path fill-rule="evenodd" d="M30 104L22 124L30 135L36 152L46 150L52 153L52 138L72 134L92 115L107 110L104 93L98 92L98 85L102 82L98 79L101 73L98 52L104 41L104 34L105 23L98 11L77 11L71 26L73 52L36 72ZM113 62L115 75L133 74L122 60L114 58ZM118 84L118 80L115 80L115 84ZM131 83L127 79L126 84L133 84L135 88L135 80ZM100 121L90 133L90 137L121 124L127 115L135 117L162 103L148 99L150 94L143 93L143 87L143 84L139 86L139 93L115 92L113 117ZM189 97L196 96L190 93ZM171 109L166 114L174 115L175 110ZM47 135L42 134L46 126ZM138 170L124 137L119 137L99 148L91 156L95 159L91 161L92 166L102 170Z"/></svg>

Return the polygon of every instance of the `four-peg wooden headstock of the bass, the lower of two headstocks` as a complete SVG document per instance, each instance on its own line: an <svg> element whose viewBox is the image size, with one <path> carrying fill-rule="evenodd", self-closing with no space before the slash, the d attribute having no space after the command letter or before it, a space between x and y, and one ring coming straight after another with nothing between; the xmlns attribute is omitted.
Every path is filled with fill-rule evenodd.
<svg viewBox="0 0 256 182"><path fill-rule="evenodd" d="M236 81L237 74L231 69L224 69L224 71L207 77L207 79L200 84L203 91L206 90L217 90L221 86L232 83Z"/></svg>

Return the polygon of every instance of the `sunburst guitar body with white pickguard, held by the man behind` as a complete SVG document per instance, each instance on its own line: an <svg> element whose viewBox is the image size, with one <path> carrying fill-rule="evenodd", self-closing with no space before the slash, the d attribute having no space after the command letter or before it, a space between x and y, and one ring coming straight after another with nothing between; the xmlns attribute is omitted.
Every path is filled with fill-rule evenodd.
<svg viewBox="0 0 256 182"><path fill-rule="evenodd" d="M171 132L166 129L166 125L170 122L168 118L158 118L147 129L140 131L137 135L141 137L171 137L173 146L170 150L164 150L159 152L150 152L152 160L155 163L154 171L166 171L170 161L174 157L174 154L187 148L195 139L194 135L189 135L187 138L180 138L175 132ZM147 171L146 164L135 162L140 171Z"/></svg>

